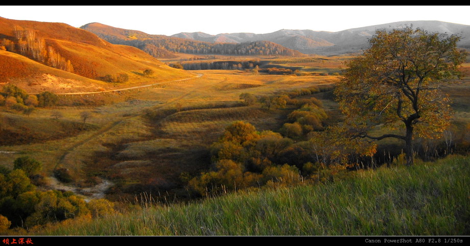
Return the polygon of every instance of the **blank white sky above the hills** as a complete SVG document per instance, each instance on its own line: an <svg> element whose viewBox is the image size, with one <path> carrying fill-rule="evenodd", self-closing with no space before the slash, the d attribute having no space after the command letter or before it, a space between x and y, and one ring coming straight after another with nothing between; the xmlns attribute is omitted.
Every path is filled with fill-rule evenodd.
<svg viewBox="0 0 470 246"><path fill-rule="evenodd" d="M470 6L0 6L0 17L65 23L98 22L148 34L207 34L280 29L338 32L396 21L470 25Z"/></svg>

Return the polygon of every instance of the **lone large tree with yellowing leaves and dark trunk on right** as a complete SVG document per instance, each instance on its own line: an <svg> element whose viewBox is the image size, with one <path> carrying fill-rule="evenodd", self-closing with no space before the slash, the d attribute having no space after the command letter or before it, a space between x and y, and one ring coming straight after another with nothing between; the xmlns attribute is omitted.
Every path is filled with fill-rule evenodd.
<svg viewBox="0 0 470 246"><path fill-rule="evenodd" d="M462 76L466 52L456 48L459 40L412 27L378 30L370 48L346 62L335 90L351 136L401 139L407 165L413 164L413 138L429 138L449 125L450 101L441 87ZM372 136L369 130L380 124L398 131Z"/></svg>

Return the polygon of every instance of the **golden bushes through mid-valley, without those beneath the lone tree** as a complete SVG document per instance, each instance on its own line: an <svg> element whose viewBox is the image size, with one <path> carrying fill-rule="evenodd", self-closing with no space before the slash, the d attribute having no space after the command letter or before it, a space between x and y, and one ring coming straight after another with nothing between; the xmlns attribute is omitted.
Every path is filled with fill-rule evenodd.
<svg viewBox="0 0 470 246"><path fill-rule="evenodd" d="M279 95L256 97L250 93L240 95L245 105L260 102L270 109L294 106L278 132L256 131L242 121L225 129L219 141L211 148L212 166L189 181L189 187L200 195L220 194L230 190L273 184L293 184L301 175L320 175L319 159L315 158L309 141L309 132L323 131L327 119L322 103L316 98L298 98L331 90L332 86L313 86ZM323 175L323 174L322 174Z"/></svg>

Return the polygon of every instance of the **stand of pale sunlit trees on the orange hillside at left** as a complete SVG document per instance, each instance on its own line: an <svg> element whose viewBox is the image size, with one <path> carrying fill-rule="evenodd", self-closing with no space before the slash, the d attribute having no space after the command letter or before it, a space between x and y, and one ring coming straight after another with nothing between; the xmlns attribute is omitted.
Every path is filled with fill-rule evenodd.
<svg viewBox="0 0 470 246"><path fill-rule="evenodd" d="M15 39L0 40L0 50L14 52L29 57L43 64L66 72L73 73L74 66L69 59L63 57L54 47L46 44L44 38L37 36L34 30L14 28Z"/></svg>

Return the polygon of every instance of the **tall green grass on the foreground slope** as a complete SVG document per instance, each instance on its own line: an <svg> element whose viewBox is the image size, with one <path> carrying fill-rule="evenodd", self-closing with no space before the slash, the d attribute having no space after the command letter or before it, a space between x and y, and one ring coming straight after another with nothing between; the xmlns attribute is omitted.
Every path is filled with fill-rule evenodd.
<svg viewBox="0 0 470 246"><path fill-rule="evenodd" d="M40 235L470 235L470 156L152 206Z"/></svg>

